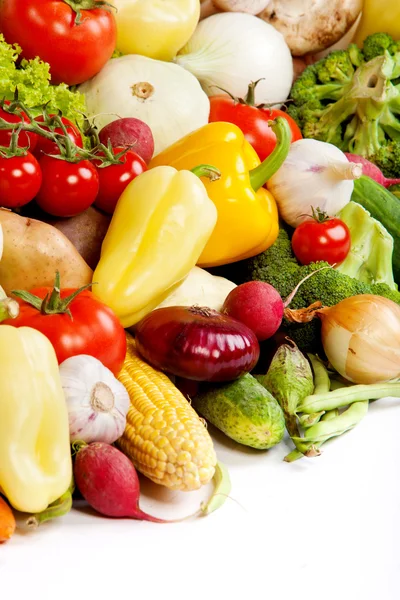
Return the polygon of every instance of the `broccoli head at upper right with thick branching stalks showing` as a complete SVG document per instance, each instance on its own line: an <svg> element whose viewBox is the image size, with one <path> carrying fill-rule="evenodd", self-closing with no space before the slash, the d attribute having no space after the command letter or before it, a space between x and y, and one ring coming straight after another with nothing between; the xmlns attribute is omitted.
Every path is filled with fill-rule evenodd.
<svg viewBox="0 0 400 600"><path fill-rule="evenodd" d="M336 145L400 176L400 41L375 33L307 67L289 113L304 137Z"/></svg>

